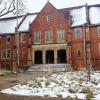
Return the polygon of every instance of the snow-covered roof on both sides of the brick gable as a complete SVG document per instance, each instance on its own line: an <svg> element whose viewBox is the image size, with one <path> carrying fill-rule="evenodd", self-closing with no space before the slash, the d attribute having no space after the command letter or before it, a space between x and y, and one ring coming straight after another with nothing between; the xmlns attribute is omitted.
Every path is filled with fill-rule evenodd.
<svg viewBox="0 0 100 100"><path fill-rule="evenodd" d="M47 2L50 3L50 2ZM51 4L51 3L50 3ZM52 4L51 4L52 5ZM53 5L52 5L53 6ZM54 7L54 6L53 6ZM55 8L55 7L54 7ZM70 7L64 9L56 9L65 18L71 20L71 27L83 26L87 22L87 8L88 8L88 18L90 25L100 25L100 4L98 5L83 5L78 7ZM19 32L28 32L29 25L34 22L39 12L22 15L18 17ZM15 33L16 27L16 16L7 17L0 19L0 34L4 33Z"/></svg>

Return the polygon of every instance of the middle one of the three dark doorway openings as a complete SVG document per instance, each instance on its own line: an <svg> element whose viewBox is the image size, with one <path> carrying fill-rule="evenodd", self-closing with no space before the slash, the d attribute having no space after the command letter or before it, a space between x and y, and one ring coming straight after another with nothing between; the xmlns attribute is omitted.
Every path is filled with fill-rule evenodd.
<svg viewBox="0 0 100 100"><path fill-rule="evenodd" d="M46 51L46 63L49 63L49 64L54 63L54 51L53 50Z"/></svg>

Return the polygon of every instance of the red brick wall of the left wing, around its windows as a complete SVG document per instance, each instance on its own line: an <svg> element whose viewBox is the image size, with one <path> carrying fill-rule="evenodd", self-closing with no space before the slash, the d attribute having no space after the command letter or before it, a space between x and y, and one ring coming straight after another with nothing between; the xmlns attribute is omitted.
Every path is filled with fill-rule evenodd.
<svg viewBox="0 0 100 100"><path fill-rule="evenodd" d="M20 66L27 65L28 60L28 33L26 34L26 42L21 42L21 34L20 34L20 49L19 49L19 58L20 58ZM13 69L13 63L16 63L16 48L14 46L16 45L16 38L15 35L10 35L11 42L10 44L6 43L6 35L1 35L1 44L0 44L0 51L3 49L10 49L11 50L11 58L10 59L2 59L1 58L1 52L0 52L0 65L2 64L10 64L11 69ZM25 53L24 57L22 57L22 52Z"/></svg>

